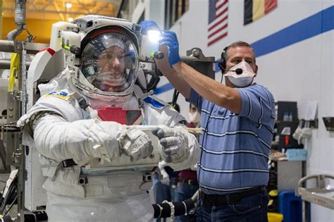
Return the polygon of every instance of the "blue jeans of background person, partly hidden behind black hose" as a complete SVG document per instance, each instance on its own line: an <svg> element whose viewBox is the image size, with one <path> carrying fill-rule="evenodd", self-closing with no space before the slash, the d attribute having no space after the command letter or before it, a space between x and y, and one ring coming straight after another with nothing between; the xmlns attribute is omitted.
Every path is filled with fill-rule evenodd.
<svg viewBox="0 0 334 222"><path fill-rule="evenodd" d="M189 185L187 183L178 183L178 187L176 187L174 192L174 201L181 202L185 199L189 199L194 195L194 193L198 190L198 185ZM175 222L187 222L187 216L175 216Z"/></svg>

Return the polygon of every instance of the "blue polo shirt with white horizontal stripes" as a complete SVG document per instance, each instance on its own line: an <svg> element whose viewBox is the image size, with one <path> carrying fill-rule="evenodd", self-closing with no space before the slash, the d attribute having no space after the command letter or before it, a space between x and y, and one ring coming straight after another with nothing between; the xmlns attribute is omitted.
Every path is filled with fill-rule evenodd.
<svg viewBox="0 0 334 222"><path fill-rule="evenodd" d="M188 100L201 111L202 130L207 128L199 138L197 168L199 185L206 194L223 195L268 183L268 153L276 119L273 95L257 84L236 90L242 99L237 115L194 90Z"/></svg>

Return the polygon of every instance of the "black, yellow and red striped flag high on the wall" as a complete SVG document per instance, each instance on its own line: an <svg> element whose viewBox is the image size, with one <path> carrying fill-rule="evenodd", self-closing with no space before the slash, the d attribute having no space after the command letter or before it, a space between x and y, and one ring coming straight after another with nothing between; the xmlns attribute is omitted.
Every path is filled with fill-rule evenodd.
<svg viewBox="0 0 334 222"><path fill-rule="evenodd" d="M277 7L277 0L244 0L244 25L252 23Z"/></svg>

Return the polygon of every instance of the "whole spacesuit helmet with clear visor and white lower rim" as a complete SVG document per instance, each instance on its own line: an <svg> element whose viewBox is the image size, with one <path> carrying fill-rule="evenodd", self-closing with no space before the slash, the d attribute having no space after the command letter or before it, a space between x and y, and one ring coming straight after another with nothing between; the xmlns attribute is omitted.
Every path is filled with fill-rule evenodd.
<svg viewBox="0 0 334 222"><path fill-rule="evenodd" d="M88 32L81 42L77 86L88 97L117 100L132 94L139 66L135 37L116 25Z"/></svg>

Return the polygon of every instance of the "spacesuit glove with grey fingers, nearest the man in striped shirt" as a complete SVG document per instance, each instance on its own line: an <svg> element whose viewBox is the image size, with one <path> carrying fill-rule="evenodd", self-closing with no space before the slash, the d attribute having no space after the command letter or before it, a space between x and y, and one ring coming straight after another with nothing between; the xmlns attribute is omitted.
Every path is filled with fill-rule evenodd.
<svg viewBox="0 0 334 222"><path fill-rule="evenodd" d="M188 132L185 128L159 125L158 128L152 130L152 133L159 137L162 148L161 156L166 163L183 161L189 156Z"/></svg>

